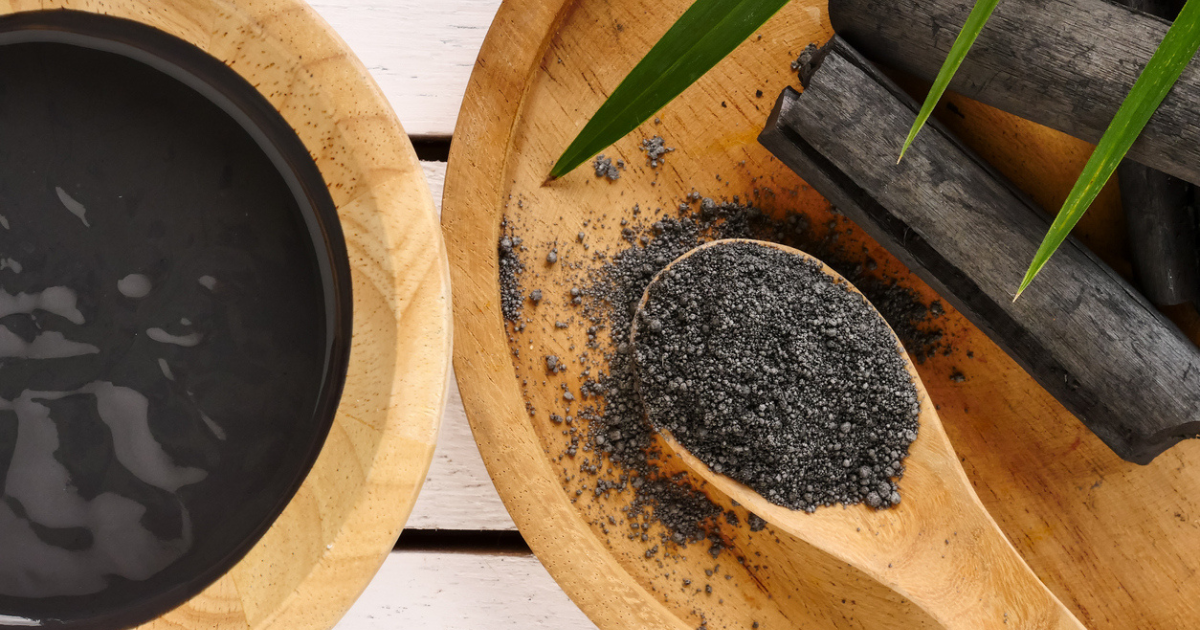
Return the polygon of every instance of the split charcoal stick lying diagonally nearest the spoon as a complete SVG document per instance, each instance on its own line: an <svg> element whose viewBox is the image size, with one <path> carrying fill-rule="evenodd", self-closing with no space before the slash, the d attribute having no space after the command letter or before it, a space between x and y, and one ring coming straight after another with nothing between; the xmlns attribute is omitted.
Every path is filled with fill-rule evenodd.
<svg viewBox="0 0 1200 630"><path fill-rule="evenodd" d="M1121 457L1200 433L1200 350L1068 239L1018 301L1046 214L840 37L760 142L1003 348Z"/></svg>

